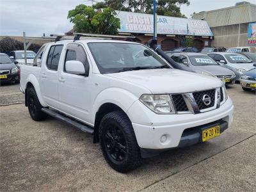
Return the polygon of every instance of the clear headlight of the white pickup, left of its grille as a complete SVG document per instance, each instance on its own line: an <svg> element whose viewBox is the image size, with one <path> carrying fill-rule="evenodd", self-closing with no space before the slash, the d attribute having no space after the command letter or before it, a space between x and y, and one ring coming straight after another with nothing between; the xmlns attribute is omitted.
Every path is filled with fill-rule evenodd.
<svg viewBox="0 0 256 192"><path fill-rule="evenodd" d="M170 95L141 95L140 101L157 114L175 114Z"/></svg>

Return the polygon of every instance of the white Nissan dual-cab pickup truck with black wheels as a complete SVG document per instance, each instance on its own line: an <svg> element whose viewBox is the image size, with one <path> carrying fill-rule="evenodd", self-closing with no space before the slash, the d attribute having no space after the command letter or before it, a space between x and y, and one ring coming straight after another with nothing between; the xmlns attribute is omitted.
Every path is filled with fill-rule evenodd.
<svg viewBox="0 0 256 192"><path fill-rule="evenodd" d="M219 136L232 123L234 106L219 79L173 69L144 45L65 40L43 45L38 56L37 67L20 70L31 118L51 115L92 133L118 172Z"/></svg>

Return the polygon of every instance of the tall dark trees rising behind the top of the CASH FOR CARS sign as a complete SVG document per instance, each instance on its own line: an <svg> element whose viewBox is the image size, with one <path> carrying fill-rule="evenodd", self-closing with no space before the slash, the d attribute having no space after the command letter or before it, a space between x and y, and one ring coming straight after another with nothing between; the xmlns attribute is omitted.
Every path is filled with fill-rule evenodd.
<svg viewBox="0 0 256 192"><path fill-rule="evenodd" d="M185 17L180 13L180 6L190 4L189 0L158 0L157 1L157 15L165 15L172 17ZM97 8L104 8L109 6L113 10L122 10L136 13L153 13L153 0L105 0L95 4Z"/></svg>

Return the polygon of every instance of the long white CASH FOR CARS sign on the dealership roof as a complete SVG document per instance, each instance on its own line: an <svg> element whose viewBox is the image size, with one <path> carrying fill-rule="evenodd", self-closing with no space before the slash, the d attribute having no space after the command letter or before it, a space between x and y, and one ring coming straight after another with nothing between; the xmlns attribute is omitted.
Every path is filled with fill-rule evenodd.
<svg viewBox="0 0 256 192"><path fill-rule="evenodd" d="M119 12L119 32L153 33L153 15L144 13ZM184 19L157 15L157 33L164 35L213 36L205 20Z"/></svg>

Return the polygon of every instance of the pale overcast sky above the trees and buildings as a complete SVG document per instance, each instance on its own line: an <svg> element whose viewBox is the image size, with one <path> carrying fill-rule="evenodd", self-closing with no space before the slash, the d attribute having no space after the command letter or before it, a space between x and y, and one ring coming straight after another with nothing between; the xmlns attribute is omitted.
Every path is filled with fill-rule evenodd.
<svg viewBox="0 0 256 192"><path fill-rule="evenodd" d="M99 1L99 0L96 0ZM240 0L242 1L242 0ZM193 12L202 12L234 6L239 0L190 0L182 5L181 12L190 17ZM256 0L246 0L256 4ZM91 0L0 0L0 35L42 36L64 34L72 29L67 19L68 10L77 4L91 5Z"/></svg>

